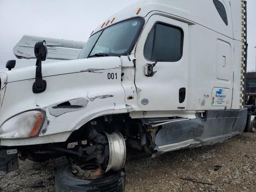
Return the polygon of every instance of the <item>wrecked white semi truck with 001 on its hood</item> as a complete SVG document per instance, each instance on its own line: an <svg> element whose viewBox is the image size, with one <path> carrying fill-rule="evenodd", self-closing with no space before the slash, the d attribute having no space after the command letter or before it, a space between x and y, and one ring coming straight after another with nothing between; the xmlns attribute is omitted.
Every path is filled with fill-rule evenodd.
<svg viewBox="0 0 256 192"><path fill-rule="evenodd" d="M122 191L126 146L155 157L242 134L246 45L244 0L138 1L76 60L41 65L36 43L36 66L0 74L0 170L66 156L57 192Z"/></svg>

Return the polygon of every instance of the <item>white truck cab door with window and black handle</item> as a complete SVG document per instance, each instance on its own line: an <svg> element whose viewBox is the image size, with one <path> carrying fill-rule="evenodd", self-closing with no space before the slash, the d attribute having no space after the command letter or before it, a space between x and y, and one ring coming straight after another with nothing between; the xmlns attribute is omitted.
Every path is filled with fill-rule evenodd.
<svg viewBox="0 0 256 192"><path fill-rule="evenodd" d="M142 110L186 110L188 24L160 15L151 16L135 56L135 84Z"/></svg>

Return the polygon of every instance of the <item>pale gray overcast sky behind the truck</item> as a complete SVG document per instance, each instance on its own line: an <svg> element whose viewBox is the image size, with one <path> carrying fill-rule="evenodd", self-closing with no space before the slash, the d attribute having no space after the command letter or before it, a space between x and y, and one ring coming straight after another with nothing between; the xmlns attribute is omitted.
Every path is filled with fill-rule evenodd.
<svg viewBox="0 0 256 192"><path fill-rule="evenodd" d="M108 16L137 0L0 0L0 71L24 34L86 41ZM248 70L256 66L256 0L248 2ZM17 59L16 68L34 65Z"/></svg>

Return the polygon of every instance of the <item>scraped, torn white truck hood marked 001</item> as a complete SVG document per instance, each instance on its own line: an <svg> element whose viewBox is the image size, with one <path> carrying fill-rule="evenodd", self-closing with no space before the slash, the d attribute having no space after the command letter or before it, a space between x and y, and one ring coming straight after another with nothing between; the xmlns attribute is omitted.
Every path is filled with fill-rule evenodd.
<svg viewBox="0 0 256 192"><path fill-rule="evenodd" d="M65 141L72 131L92 118L127 112L121 60L117 56L43 64L42 76L47 86L40 94L32 92L35 71L36 67L28 67L6 72L7 84L0 108L0 125L28 110L45 111L46 122L39 137L31 138L30 144L42 138L43 143L54 142L56 135L62 137L59 142ZM0 139L5 142L5 138ZM17 144L24 144L23 140L27 142L18 139Z"/></svg>

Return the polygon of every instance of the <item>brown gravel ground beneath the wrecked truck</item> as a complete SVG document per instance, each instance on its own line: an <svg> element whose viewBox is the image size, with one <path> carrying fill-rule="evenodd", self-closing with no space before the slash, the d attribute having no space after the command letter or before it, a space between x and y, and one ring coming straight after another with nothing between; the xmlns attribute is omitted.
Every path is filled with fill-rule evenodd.
<svg viewBox="0 0 256 192"><path fill-rule="evenodd" d="M66 163L65 158L20 161L19 170L0 173L0 191L54 192L54 172ZM214 171L214 166L222 167ZM244 133L215 146L154 159L128 151L125 167L126 192L256 192L256 134Z"/></svg>

